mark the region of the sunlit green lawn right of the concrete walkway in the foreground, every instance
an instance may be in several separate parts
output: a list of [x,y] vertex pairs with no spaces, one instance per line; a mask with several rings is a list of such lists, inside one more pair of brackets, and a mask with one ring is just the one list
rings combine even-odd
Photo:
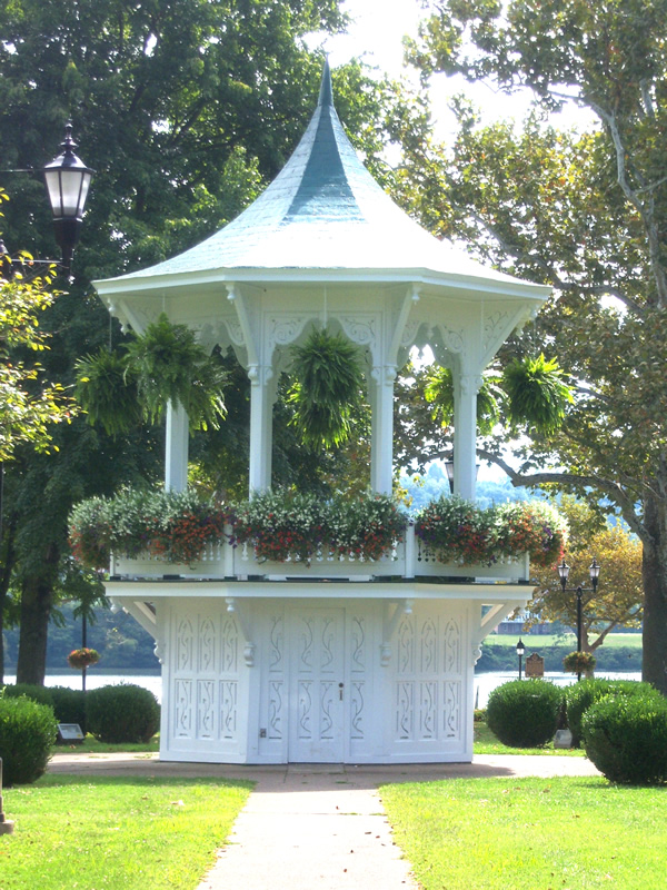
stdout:
[[385,785],[380,794],[424,890],[665,886],[664,788],[455,779]]

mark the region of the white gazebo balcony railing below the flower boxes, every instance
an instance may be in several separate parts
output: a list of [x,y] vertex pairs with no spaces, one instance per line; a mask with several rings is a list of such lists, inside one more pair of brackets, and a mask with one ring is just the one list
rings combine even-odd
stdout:
[[168,563],[149,554],[111,560],[112,577],[127,578],[235,578],[283,581],[298,578],[349,578],[372,581],[378,577],[448,577],[485,578],[490,581],[522,581],[528,577],[528,554],[505,557],[494,563],[464,565],[461,561],[441,562],[415,535],[409,525],[406,540],[380,560],[365,560],[355,554],[339,555],[317,553],[310,563],[298,557],[285,562],[258,561],[252,547],[247,544],[231,547],[228,544],[209,546],[201,560],[192,565]]

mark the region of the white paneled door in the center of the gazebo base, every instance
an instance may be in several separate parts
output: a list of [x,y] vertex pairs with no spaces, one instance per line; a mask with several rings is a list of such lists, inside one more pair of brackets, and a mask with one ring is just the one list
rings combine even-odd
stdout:
[[295,610],[289,626],[289,761],[340,763],[347,695],[345,610]]

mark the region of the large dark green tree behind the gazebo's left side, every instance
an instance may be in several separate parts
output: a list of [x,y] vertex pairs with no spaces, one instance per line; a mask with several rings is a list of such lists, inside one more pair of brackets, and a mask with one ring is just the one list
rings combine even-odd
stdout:
[[[98,171],[77,280],[44,313],[44,329],[57,335],[44,360],[51,379],[71,385],[78,358],[122,339],[90,280],[191,247],[278,172],[319,89],[321,55],[305,38],[342,24],[338,0],[16,0],[0,8],[3,165],[38,167],[50,159],[53,132],[71,116],[80,154]],[[335,72],[335,86],[341,117],[379,168],[386,140],[380,107],[389,86],[357,63]],[[28,176],[12,182],[9,246],[53,256],[50,228],[40,184]],[[218,443],[230,428],[225,424],[242,415],[243,396],[237,395],[240,409],[220,425]],[[233,432],[242,438],[238,426]],[[141,427],[121,441],[77,418],[58,431],[58,452],[21,452],[8,478],[6,511],[6,528],[10,513],[16,528],[12,584],[21,592],[20,681],[43,679],[72,503],[122,482],[157,479],[160,439]],[[198,445],[192,453],[206,456]]]

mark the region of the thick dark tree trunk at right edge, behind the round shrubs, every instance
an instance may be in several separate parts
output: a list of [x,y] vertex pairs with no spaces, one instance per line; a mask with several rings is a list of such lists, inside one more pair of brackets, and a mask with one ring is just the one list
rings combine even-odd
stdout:
[[657,498],[645,503],[645,525],[653,546],[644,544],[644,662],[641,679],[667,695],[667,510]]

